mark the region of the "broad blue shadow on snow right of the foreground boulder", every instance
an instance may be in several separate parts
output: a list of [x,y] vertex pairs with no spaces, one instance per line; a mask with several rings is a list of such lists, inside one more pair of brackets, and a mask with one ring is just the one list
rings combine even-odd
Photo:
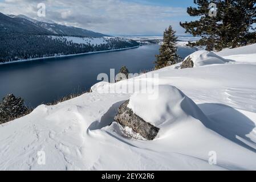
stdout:
[[223,104],[200,104],[198,105],[210,119],[204,125],[223,137],[256,152],[256,143],[249,137],[255,129],[255,123],[246,115],[235,110],[233,107]]

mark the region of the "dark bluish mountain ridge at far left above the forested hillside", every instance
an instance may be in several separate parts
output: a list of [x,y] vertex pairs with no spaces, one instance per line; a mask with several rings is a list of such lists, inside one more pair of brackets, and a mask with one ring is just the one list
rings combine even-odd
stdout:
[[0,13],[0,33],[26,33],[36,35],[52,34],[46,30],[24,18],[10,18]]

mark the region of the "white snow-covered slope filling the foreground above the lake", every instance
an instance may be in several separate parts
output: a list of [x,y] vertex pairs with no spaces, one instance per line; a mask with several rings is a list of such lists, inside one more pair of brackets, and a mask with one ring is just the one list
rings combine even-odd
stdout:
[[[0,169],[255,170],[256,64],[235,63],[166,67],[100,82],[92,93],[56,106],[41,105],[0,126]],[[162,85],[159,100],[128,90],[108,93],[143,81]],[[160,127],[155,140],[125,138],[117,123],[109,126],[129,98],[135,113]],[[208,162],[213,155],[216,165]]]

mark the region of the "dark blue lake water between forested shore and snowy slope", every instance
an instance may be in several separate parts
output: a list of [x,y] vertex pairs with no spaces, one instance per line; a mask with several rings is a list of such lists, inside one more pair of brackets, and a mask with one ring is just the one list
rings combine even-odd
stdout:
[[[21,96],[27,106],[46,104],[70,93],[90,89],[99,82],[97,75],[109,75],[109,69],[115,69],[116,74],[122,65],[126,65],[131,73],[152,69],[159,47],[141,46],[125,51],[0,65],[0,98],[13,93]],[[185,57],[194,50],[181,47],[178,52]]]

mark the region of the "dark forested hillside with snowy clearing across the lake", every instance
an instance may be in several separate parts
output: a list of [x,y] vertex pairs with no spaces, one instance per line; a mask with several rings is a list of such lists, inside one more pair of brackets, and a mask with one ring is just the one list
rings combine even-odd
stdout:
[[[85,39],[87,42],[83,42]],[[97,44],[94,43],[95,39],[98,39]],[[80,43],[78,40],[81,40]],[[139,46],[139,44],[133,40],[121,38],[79,38],[2,33],[0,34],[0,62],[107,51],[135,46]]]

